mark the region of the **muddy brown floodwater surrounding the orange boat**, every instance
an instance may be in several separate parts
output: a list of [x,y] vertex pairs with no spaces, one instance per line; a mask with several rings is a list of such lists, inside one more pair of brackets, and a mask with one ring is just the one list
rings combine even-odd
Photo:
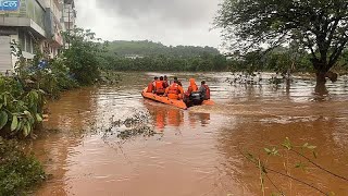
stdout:
[[[318,146],[316,159],[306,155],[348,176],[347,77],[328,84],[331,94],[319,101],[312,79],[275,88],[265,79],[231,85],[229,73],[177,74],[184,85],[191,76],[207,79],[216,102],[184,111],[142,99],[140,90],[158,73],[122,75],[121,85],[72,90],[49,103],[51,114],[32,148],[50,179],[35,195],[262,195],[260,172],[241,151],[265,158],[263,148],[286,137]],[[134,115],[148,118],[109,128]],[[129,126],[146,131],[121,138],[117,133]],[[268,166],[325,193],[348,195],[347,181],[282,154],[288,158],[270,158]],[[299,161],[306,170],[295,169]],[[285,195],[321,195],[295,180],[269,176]],[[265,195],[277,192],[271,181],[264,181]]]

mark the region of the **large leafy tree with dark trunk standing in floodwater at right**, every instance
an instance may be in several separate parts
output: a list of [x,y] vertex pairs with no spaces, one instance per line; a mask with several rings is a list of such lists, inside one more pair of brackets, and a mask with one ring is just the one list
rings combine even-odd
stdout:
[[311,53],[316,86],[337,74],[336,64],[348,41],[346,0],[224,0],[215,17],[235,48],[270,48],[296,40]]

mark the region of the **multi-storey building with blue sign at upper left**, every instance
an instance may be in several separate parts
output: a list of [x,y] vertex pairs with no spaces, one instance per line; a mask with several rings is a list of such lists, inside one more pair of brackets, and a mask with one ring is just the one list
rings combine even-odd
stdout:
[[[0,0],[0,73],[14,71],[17,59],[11,56],[11,41],[20,45],[26,59],[34,58],[35,46],[48,58],[60,52],[61,33],[66,30],[65,2],[74,4],[74,0]],[[75,17],[76,13],[74,23]]]

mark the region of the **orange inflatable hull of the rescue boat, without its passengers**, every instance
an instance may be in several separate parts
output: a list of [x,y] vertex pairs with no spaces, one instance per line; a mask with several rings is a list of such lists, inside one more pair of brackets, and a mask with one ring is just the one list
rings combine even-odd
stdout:
[[[186,110],[188,108],[187,105],[183,100],[170,99],[167,97],[158,96],[157,94],[148,93],[147,90],[148,90],[148,88],[145,88],[141,93],[144,98],[151,99],[151,100],[162,102],[165,105],[175,106],[175,107],[184,109],[184,110]],[[212,105],[214,105],[214,101],[203,100],[200,105],[212,106]],[[195,105],[195,106],[197,106],[197,105]]]

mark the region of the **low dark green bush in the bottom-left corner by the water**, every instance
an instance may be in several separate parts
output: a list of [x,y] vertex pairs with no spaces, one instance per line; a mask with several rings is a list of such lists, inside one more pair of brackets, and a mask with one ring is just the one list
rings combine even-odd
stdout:
[[33,156],[26,156],[14,140],[0,137],[0,195],[25,195],[41,183],[46,175],[42,166]]

